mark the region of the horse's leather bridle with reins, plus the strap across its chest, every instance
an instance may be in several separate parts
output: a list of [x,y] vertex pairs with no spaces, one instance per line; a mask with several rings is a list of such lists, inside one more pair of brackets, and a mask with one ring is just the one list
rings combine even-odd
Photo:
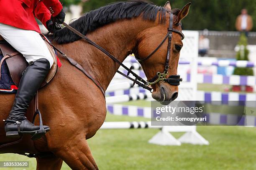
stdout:
[[[110,54],[108,51],[106,51],[104,48],[102,48],[101,46],[99,46],[97,43],[95,43],[94,41],[90,40],[89,38],[87,38],[87,36],[84,36],[82,33],[80,33],[78,30],[74,29],[73,27],[71,27],[70,25],[68,25],[67,23],[62,23],[63,25],[65,25],[69,30],[71,30],[72,32],[74,32],[75,34],[77,34],[79,37],[81,37],[82,39],[84,39],[85,41],[87,41],[88,43],[90,43],[92,46],[95,46],[97,49],[99,49],[100,51],[102,51],[103,53],[105,53],[105,55],[107,55],[108,57],[110,57],[113,61],[115,61],[116,63],[118,63],[120,66],[122,66],[125,70],[128,71],[127,74],[123,74],[121,71],[117,71],[117,73],[121,74],[122,76],[125,76],[127,79],[133,81],[133,86],[135,84],[138,84],[138,86],[141,86],[144,89],[149,90],[150,92],[152,92],[152,88],[149,87],[152,84],[156,84],[158,81],[164,81],[169,83],[170,85],[173,86],[178,86],[179,82],[182,81],[182,79],[180,78],[179,75],[172,75],[169,76],[169,78],[166,78],[166,76],[168,75],[168,69],[169,69],[169,59],[170,59],[170,54],[171,54],[171,41],[172,41],[172,32],[175,33],[179,33],[179,35],[181,36],[182,40],[184,39],[184,34],[182,32],[180,32],[179,30],[174,30],[173,29],[173,14],[170,12],[170,22],[169,22],[169,28],[168,28],[168,33],[165,36],[164,40],[159,44],[159,46],[151,53],[149,54],[146,58],[143,59],[138,59],[136,58],[139,62],[141,61],[145,61],[148,58],[150,58],[154,53],[156,53],[156,51],[158,51],[158,49],[164,44],[164,42],[166,41],[166,39],[168,38],[168,51],[167,51],[167,58],[166,58],[166,63],[165,63],[165,67],[164,67],[164,73],[160,73],[158,72],[156,74],[156,76],[154,76],[153,79],[146,81],[144,79],[142,79],[140,76],[138,76],[138,74],[134,73],[132,71],[132,67],[129,69],[127,66],[125,66],[121,61],[119,61],[117,58],[115,58],[115,56],[113,56],[112,54]],[[102,88],[102,86],[100,85],[100,83],[94,79],[87,71],[85,71],[84,68],[82,68],[81,65],[79,65],[79,63],[77,63],[76,61],[74,61],[73,59],[67,57],[67,55],[65,53],[63,53],[62,51],[60,51],[58,48],[56,48],[54,45],[52,45],[50,42],[47,41],[47,43],[49,43],[56,51],[58,51],[62,56],[64,56],[64,58],[66,58],[73,66],[77,67],[77,69],[79,69],[80,71],[82,71],[82,73],[84,73],[87,77],[89,77],[102,91],[103,95],[105,95],[105,90]],[[131,78],[130,76],[128,76],[129,74],[132,74],[135,79]]]

